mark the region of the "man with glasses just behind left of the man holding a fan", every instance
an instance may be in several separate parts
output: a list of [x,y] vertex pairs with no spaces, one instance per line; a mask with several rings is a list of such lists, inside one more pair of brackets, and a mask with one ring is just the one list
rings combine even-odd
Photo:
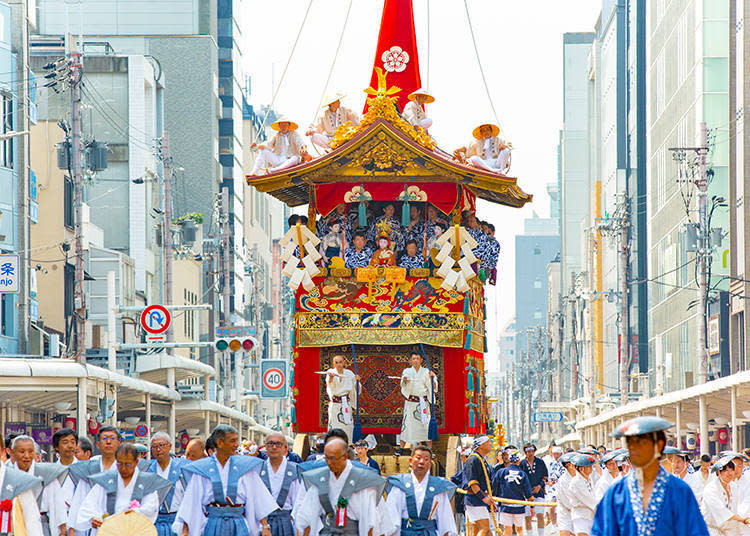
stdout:
[[101,452],[99,456],[93,456],[91,459],[74,463],[70,466],[68,475],[75,484],[76,491],[68,508],[68,529],[76,529],[76,536],[82,536],[85,531],[91,528],[88,523],[83,527],[78,527],[78,511],[81,509],[83,501],[91,491],[91,477],[102,471],[108,471],[115,464],[115,452],[120,446],[120,432],[114,426],[102,426],[96,435],[96,447]]

